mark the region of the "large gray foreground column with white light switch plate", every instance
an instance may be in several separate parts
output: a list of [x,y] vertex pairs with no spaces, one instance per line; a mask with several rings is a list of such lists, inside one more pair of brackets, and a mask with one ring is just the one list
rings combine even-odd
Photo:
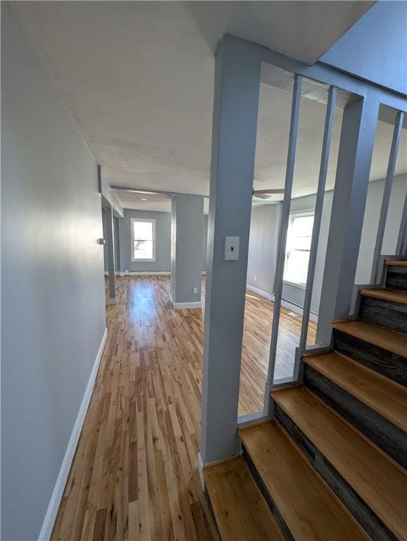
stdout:
[[[203,464],[236,454],[237,406],[260,62],[223,37],[215,60],[208,218],[208,273],[201,418]],[[225,261],[225,237],[239,237],[239,260]]]

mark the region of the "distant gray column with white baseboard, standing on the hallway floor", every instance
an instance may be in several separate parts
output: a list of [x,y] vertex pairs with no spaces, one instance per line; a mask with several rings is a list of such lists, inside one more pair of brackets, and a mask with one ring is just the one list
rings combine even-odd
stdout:
[[174,308],[201,307],[203,196],[171,199],[171,298]]

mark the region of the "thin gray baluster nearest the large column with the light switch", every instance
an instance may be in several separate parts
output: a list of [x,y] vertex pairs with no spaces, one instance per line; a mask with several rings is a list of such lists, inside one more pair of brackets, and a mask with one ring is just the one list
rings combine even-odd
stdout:
[[296,138],[299,124],[299,106],[301,101],[301,75],[296,75],[292,94],[291,121],[289,127],[289,141],[287,154],[287,167],[285,171],[284,199],[282,202],[282,215],[280,222],[280,235],[277,251],[277,263],[275,266],[275,299],[273,307],[273,327],[271,330],[270,358],[268,362],[268,376],[265,384],[263,414],[270,414],[272,404],[270,402],[270,387],[273,385],[275,356],[277,354],[278,328],[280,324],[280,309],[282,297],[282,278],[284,275],[285,248],[287,244],[287,232],[289,224],[289,209],[292,197],[292,182],[294,179],[294,163],[296,151]]

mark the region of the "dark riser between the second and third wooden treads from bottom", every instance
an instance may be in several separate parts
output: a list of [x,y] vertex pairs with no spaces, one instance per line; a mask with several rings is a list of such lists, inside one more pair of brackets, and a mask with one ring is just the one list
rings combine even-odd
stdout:
[[275,404],[275,419],[300,447],[308,458],[308,461],[310,461],[311,466],[318,471],[325,480],[325,483],[330,486],[331,490],[342,501],[354,518],[356,518],[356,521],[358,521],[368,535],[370,535],[372,540],[396,541],[397,538],[392,534],[389,528],[387,528],[372,509],[363,502],[363,499],[358,496],[349,483],[342,478],[342,475],[340,475],[332,464],[327,461],[325,456],[320,453],[311,440],[308,440],[308,437],[301,432],[294,421],[284,413],[278,404]]

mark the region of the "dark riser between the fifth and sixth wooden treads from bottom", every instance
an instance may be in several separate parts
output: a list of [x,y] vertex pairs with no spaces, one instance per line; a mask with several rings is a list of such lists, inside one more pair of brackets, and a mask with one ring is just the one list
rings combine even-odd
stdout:
[[396,304],[362,295],[358,317],[367,323],[407,332],[407,304]]

